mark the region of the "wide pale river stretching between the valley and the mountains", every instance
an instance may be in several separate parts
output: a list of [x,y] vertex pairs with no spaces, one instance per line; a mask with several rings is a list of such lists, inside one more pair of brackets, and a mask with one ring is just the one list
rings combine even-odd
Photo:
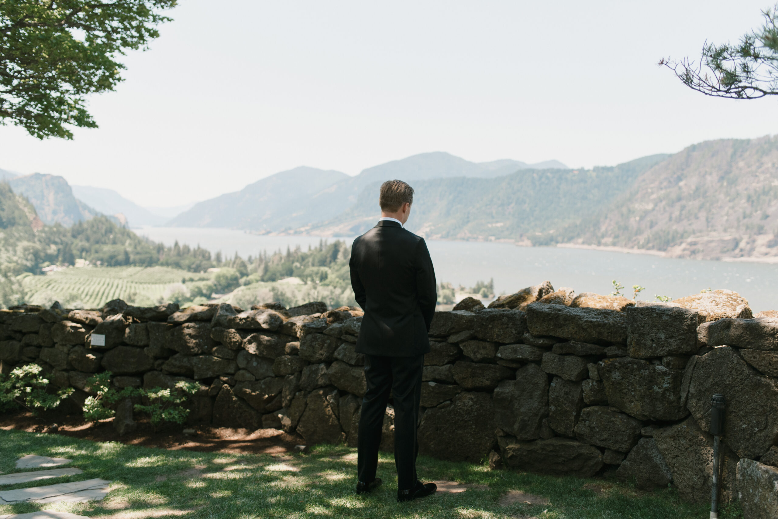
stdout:
[[[200,245],[225,256],[244,259],[262,251],[286,251],[286,247],[317,246],[314,236],[259,236],[232,229],[145,227],[133,229],[166,246]],[[351,242],[352,239],[342,239]],[[748,299],[754,312],[778,309],[778,265],[724,263],[699,259],[662,258],[643,254],[615,253],[557,247],[517,247],[512,243],[430,240],[429,253],[439,281],[471,287],[477,280],[494,279],[495,291],[512,293],[528,285],[550,280],[554,287],[572,287],[576,293],[612,291],[617,280],[632,297],[631,287],[646,287],[639,298],[656,295],[681,298],[706,288],[728,288]]]

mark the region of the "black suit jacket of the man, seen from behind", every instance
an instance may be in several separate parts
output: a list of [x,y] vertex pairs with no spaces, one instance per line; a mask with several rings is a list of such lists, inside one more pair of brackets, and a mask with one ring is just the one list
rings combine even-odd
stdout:
[[354,240],[351,286],[365,311],[356,351],[386,357],[429,353],[437,291],[433,261],[421,236],[395,221]]

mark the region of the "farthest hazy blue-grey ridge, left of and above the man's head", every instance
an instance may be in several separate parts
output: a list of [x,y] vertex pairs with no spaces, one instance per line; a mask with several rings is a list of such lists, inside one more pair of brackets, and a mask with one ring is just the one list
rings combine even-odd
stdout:
[[[567,169],[558,161],[533,166]],[[469,162],[445,152],[422,153],[386,162],[364,169],[357,176],[301,166],[267,176],[235,193],[195,204],[189,211],[170,220],[169,225],[304,232],[348,210],[365,186],[378,181],[399,178],[418,182],[461,176],[486,179],[529,167],[525,162],[510,159]]]

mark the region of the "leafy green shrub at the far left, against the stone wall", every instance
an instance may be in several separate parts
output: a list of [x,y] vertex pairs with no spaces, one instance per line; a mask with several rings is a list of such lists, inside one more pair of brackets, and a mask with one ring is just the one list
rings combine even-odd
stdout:
[[61,388],[47,392],[47,378],[40,375],[42,367],[37,364],[15,367],[8,375],[0,374],[0,405],[9,409],[23,406],[33,414],[37,411],[54,409],[63,399],[72,395],[73,388]]

